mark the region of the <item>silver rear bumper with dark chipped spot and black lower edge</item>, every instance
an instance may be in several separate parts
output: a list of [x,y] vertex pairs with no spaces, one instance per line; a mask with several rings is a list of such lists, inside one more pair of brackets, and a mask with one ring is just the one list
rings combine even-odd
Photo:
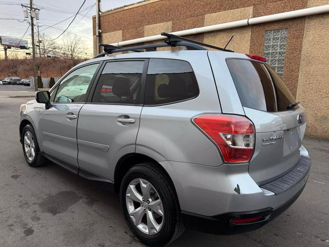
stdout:
[[[285,186],[281,191],[271,191],[266,185],[258,185],[248,173],[248,164],[223,164],[218,167],[168,161],[160,164],[167,170],[174,183],[187,227],[191,225],[191,228],[197,228],[193,225],[204,225],[202,222],[208,222],[207,224],[216,226],[210,228],[218,228],[215,232],[230,234],[243,232],[244,228],[250,231],[264,225],[298,198],[306,184],[310,169],[310,158],[306,149],[302,146],[300,151],[302,163],[300,167],[295,167],[303,169],[300,176],[296,177],[294,168],[276,181],[270,182],[280,182],[279,186]],[[307,168],[304,166],[305,161],[308,163]],[[290,179],[295,181],[284,178],[290,172],[293,172]],[[283,185],[280,180],[282,178],[289,184]],[[249,223],[247,227],[230,225],[232,218],[238,215],[242,218],[264,217],[261,222]],[[192,223],[193,221],[196,223]],[[231,227],[225,230],[228,226]],[[207,228],[207,232],[211,232]]]

